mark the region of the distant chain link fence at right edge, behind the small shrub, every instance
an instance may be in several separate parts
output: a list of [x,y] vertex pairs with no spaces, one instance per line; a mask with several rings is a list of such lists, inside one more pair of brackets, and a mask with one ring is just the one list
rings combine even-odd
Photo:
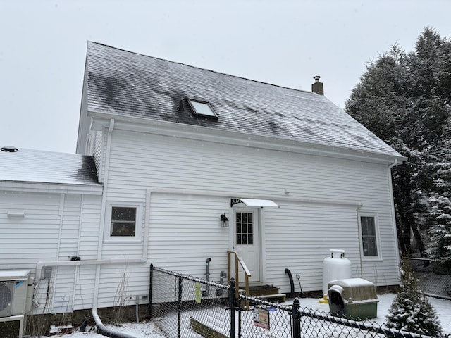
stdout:
[[432,259],[407,258],[412,265],[419,289],[428,296],[451,299],[451,271]]

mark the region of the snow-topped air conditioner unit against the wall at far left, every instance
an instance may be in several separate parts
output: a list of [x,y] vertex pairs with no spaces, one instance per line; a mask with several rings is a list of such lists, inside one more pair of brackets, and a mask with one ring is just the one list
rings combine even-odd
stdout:
[[30,270],[0,270],[0,318],[30,311],[32,298]]

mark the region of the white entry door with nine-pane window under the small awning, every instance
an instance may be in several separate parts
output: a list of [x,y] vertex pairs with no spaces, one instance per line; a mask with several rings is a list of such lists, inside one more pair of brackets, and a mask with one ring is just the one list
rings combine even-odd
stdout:
[[[260,280],[259,255],[259,223],[256,209],[237,209],[234,211],[235,233],[233,239],[234,250],[245,262],[252,282]],[[240,272],[240,282],[244,282],[244,274]]]

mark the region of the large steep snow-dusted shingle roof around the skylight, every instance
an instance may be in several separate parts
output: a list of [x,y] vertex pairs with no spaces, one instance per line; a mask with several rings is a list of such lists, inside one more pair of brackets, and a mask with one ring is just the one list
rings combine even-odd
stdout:
[[[264,69],[262,70],[264,72]],[[88,111],[400,156],[325,96],[88,42]],[[218,120],[180,100],[206,99]]]

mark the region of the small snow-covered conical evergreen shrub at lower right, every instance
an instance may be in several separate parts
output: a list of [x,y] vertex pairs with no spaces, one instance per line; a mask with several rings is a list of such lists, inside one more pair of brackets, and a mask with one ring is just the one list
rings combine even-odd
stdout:
[[435,308],[419,290],[407,261],[402,262],[401,289],[388,310],[385,325],[396,330],[443,337]]

